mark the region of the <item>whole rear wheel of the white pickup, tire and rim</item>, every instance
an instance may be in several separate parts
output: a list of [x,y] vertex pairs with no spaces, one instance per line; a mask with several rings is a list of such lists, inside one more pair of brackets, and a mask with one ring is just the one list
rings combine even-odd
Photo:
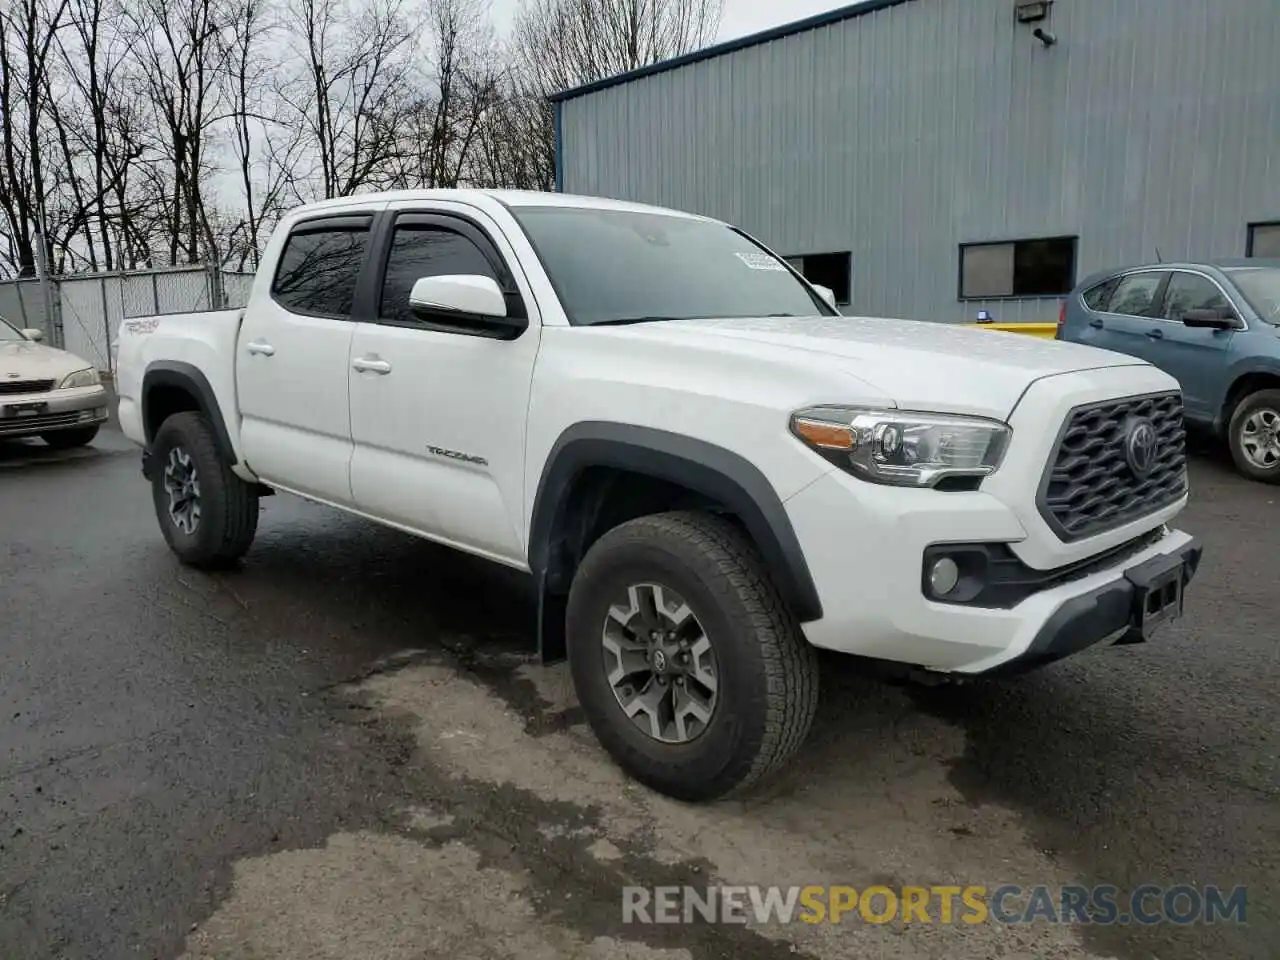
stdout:
[[200,413],[174,413],[151,444],[151,495],[170,549],[193,567],[244,556],[257,532],[257,490],[232,472]]

